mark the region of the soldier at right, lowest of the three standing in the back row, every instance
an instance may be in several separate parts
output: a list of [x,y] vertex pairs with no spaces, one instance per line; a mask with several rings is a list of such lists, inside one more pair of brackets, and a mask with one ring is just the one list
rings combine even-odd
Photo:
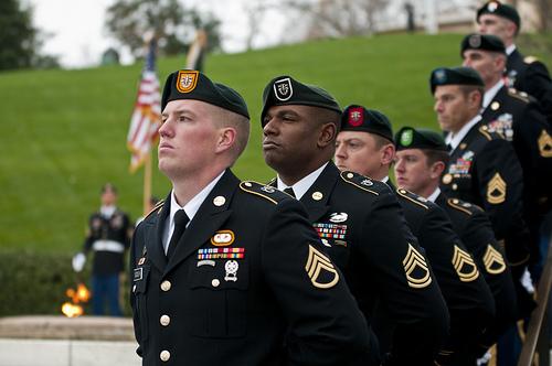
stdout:
[[526,269],[529,251],[522,217],[523,179],[516,152],[481,120],[484,82],[475,69],[436,68],[431,75],[431,90],[438,123],[447,132],[445,141],[450,148],[440,189],[452,198],[474,203],[487,212],[517,281]]

